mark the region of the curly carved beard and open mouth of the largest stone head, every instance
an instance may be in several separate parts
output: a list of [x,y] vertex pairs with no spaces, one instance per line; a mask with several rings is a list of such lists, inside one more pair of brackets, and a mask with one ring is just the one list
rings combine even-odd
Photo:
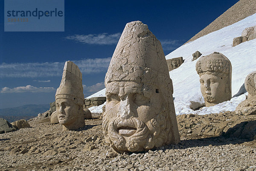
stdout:
[[149,150],[165,145],[168,141],[162,137],[170,133],[166,124],[168,121],[162,120],[165,123],[162,123],[163,129],[161,129],[156,126],[159,124],[158,119],[163,117],[156,116],[146,123],[135,117],[129,119],[116,117],[109,121],[104,115],[103,133],[111,147],[118,153]]

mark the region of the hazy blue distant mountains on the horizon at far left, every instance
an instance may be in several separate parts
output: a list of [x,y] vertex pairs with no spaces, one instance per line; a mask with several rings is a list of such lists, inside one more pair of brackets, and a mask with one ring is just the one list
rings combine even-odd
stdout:
[[8,122],[14,122],[19,119],[31,119],[38,116],[38,113],[44,113],[49,110],[49,104],[27,104],[20,107],[9,107],[0,109],[0,118]]

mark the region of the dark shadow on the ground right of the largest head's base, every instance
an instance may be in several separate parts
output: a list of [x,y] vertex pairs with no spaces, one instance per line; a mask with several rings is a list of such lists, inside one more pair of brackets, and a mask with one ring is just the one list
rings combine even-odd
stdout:
[[228,145],[228,144],[241,144],[244,142],[250,142],[256,139],[256,120],[241,122],[233,128],[229,128],[226,133],[222,133],[220,136],[201,138],[201,139],[189,139],[182,140],[178,145],[170,145],[172,148],[190,148],[201,147],[209,145]]

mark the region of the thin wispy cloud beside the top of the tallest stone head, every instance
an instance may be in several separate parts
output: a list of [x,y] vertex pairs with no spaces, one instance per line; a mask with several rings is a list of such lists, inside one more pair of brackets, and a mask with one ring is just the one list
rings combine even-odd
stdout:
[[85,44],[100,44],[100,45],[109,45],[116,44],[121,36],[121,33],[115,34],[94,34],[94,35],[71,35],[65,37],[66,39],[78,41]]

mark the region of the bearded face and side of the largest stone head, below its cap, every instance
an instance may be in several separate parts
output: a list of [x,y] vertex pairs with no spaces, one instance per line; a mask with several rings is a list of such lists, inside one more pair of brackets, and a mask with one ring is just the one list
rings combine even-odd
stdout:
[[133,81],[107,84],[102,125],[115,151],[143,151],[179,142],[172,126],[174,122],[177,124],[176,116],[175,119],[170,116],[175,113],[173,102],[167,98],[168,90],[163,90]]

